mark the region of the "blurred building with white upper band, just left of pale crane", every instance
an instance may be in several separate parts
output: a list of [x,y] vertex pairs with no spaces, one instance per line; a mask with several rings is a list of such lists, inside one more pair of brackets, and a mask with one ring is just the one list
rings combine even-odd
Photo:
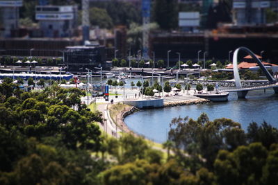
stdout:
[[77,27],[77,6],[36,6],[35,19],[43,37],[72,37]]

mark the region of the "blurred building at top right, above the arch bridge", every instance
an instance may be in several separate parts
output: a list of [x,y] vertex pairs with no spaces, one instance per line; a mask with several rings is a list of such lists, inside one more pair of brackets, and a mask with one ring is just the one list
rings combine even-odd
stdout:
[[238,26],[265,24],[265,9],[270,1],[234,0],[234,23]]

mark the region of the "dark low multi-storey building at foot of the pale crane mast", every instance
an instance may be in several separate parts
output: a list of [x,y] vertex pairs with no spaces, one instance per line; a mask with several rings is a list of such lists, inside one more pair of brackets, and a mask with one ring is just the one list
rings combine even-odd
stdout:
[[69,46],[64,52],[67,71],[80,72],[85,69],[104,67],[106,49],[99,45]]

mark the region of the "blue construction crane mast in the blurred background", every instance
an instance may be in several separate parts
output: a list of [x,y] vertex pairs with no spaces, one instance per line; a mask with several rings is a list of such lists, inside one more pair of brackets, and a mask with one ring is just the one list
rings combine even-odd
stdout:
[[142,0],[143,17],[143,44],[142,55],[144,60],[149,60],[149,17],[151,15],[151,0]]

